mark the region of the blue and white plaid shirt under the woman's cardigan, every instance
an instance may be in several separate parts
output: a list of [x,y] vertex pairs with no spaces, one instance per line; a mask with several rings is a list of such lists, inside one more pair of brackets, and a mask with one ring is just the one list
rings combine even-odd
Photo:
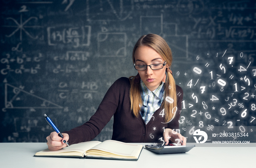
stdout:
[[154,112],[160,108],[163,101],[164,83],[154,91],[150,91],[144,82],[140,79],[140,96],[142,98],[143,105],[140,106],[140,115],[142,116],[145,124],[147,124]]

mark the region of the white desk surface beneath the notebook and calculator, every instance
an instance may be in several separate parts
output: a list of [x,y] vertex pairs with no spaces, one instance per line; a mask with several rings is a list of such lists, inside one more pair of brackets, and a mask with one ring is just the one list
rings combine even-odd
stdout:
[[[143,144],[144,146],[145,144]],[[251,147],[195,147],[187,153],[157,155],[143,149],[138,161],[33,157],[46,143],[0,143],[3,168],[217,168],[255,167],[256,144]]]

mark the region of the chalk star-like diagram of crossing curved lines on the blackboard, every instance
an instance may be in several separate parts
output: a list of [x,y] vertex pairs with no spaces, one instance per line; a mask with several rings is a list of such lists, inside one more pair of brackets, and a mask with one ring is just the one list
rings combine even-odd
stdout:
[[3,27],[8,27],[8,28],[12,28],[12,27],[16,27],[15,31],[13,31],[10,35],[5,35],[6,37],[11,37],[13,36],[16,32],[20,31],[19,36],[20,36],[20,41],[22,41],[22,31],[24,31],[26,33],[26,35],[28,35],[31,39],[38,39],[38,36],[33,37],[28,31],[26,31],[25,28],[41,28],[41,26],[37,26],[37,25],[33,25],[33,26],[25,26],[30,20],[35,19],[38,20],[37,17],[30,17],[29,19],[27,19],[25,22],[22,22],[22,15],[20,15],[20,23],[18,23],[17,20],[15,20],[12,17],[8,17],[6,18],[7,20],[12,20],[14,21],[14,23],[16,25],[12,26],[12,25],[3,25]]

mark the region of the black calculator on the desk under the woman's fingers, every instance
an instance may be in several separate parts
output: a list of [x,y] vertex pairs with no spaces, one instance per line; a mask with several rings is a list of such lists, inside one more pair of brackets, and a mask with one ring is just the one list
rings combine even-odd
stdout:
[[186,153],[195,147],[195,145],[145,145],[145,148],[151,152],[157,154],[167,154],[167,153]]

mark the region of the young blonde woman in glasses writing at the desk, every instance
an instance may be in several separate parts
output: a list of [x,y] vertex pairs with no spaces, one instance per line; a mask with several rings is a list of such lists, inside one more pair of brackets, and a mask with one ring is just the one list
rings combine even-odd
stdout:
[[166,41],[155,34],[140,37],[132,59],[138,75],[116,80],[90,120],[64,132],[63,139],[56,132],[50,133],[46,137],[50,150],[65,147],[66,141],[75,144],[93,140],[112,116],[112,140],[186,144],[186,138],[173,130],[178,129],[183,91],[170,71],[172,52]]

